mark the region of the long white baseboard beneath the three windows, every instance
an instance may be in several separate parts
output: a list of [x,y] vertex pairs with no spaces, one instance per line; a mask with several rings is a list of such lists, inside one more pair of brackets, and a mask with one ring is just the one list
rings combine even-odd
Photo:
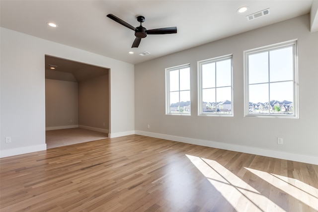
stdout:
[[135,131],[135,134],[141,135],[141,136],[149,136],[149,137],[158,138],[158,139],[179,141],[183,143],[191,143],[191,144],[196,144],[201,146],[208,146],[208,147],[226,149],[231,151],[239,151],[239,152],[244,152],[249,154],[257,154],[257,155],[262,155],[267,157],[275,157],[275,158],[280,158],[285,160],[293,160],[293,161],[318,165],[318,156],[314,156],[314,155],[304,155],[304,154],[297,154],[293,152],[275,151],[275,150],[262,149],[262,148],[256,148],[251,146],[222,143],[217,141],[191,139],[191,138],[170,136],[170,135],[164,135],[164,134],[158,134],[158,133],[150,133],[145,131]]

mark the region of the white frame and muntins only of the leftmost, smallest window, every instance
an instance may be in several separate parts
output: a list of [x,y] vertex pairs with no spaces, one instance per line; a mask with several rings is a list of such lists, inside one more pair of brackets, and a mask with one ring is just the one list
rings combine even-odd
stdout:
[[[176,71],[184,68],[189,68],[189,92],[190,92],[190,108],[191,108],[191,69],[190,64],[184,64],[180,66],[170,67],[165,69],[165,115],[180,115],[180,116],[191,116],[191,109],[190,113],[171,113],[170,112],[170,78],[169,78],[169,71]],[[180,91],[186,91],[186,90],[180,90],[180,72],[179,72],[179,90]],[[180,94],[179,94],[179,103],[180,103]]]

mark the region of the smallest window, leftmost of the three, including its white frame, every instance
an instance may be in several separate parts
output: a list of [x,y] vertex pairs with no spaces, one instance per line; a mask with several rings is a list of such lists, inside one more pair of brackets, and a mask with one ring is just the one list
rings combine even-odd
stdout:
[[190,115],[190,65],[166,71],[166,114]]

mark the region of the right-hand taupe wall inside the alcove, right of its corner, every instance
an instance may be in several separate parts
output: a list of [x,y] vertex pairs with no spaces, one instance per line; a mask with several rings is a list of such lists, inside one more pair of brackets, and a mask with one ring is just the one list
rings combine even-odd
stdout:
[[108,75],[79,82],[79,125],[109,130]]

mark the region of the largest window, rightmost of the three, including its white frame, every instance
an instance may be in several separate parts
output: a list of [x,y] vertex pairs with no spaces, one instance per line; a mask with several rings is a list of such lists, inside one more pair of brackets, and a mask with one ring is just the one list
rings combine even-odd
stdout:
[[245,115],[298,117],[297,41],[244,52]]

